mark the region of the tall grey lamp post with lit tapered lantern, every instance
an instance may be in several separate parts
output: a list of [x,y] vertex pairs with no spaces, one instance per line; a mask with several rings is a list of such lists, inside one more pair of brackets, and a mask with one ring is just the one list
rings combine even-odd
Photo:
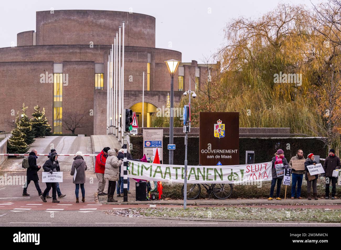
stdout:
[[[170,119],[169,119],[169,144],[173,144],[173,105],[174,105],[174,74],[178,69],[180,61],[171,59],[165,61],[168,71],[170,73]],[[169,162],[168,164],[173,164],[173,150],[169,150]]]

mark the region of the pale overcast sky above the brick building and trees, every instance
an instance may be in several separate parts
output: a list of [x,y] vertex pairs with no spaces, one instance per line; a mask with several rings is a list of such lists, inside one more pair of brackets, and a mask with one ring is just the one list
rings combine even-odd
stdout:
[[[320,3],[321,0],[311,0]],[[182,62],[214,53],[223,42],[223,28],[233,18],[259,17],[273,10],[278,3],[305,4],[310,0],[58,0],[1,1],[0,48],[16,45],[17,33],[35,30],[35,12],[50,10],[113,10],[130,11],[156,18],[156,47],[182,52]],[[210,8],[210,9],[209,9]],[[209,10],[211,13],[209,13]]]

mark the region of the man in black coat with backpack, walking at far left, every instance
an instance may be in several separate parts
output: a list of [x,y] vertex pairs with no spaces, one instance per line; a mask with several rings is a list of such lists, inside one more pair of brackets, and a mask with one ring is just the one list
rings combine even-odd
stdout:
[[31,181],[34,182],[35,188],[38,191],[38,195],[41,196],[42,190],[40,189],[39,186],[39,177],[38,177],[38,171],[40,170],[41,166],[37,165],[37,151],[33,149],[28,156],[28,165],[29,167],[26,170],[26,176],[27,176],[27,181],[25,183],[24,191],[23,191],[23,196],[29,196],[27,194],[27,187],[30,184]]

